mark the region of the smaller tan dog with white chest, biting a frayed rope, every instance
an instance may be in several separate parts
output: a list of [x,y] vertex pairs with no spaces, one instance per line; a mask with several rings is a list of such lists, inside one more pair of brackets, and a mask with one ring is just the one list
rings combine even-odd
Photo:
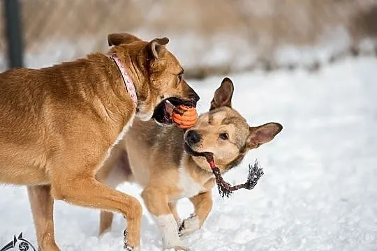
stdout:
[[[136,181],[145,188],[142,199],[161,230],[164,249],[186,250],[179,234],[199,229],[211,211],[214,175],[205,157],[198,153],[214,153],[216,166],[224,173],[237,166],[250,149],[271,141],[282,129],[279,123],[249,127],[232,109],[232,94],[232,82],[223,79],[209,112],[202,114],[190,130],[135,119],[124,141],[114,147],[98,172],[98,180],[113,187]],[[182,197],[191,200],[195,214],[178,228],[176,204]],[[112,213],[103,211],[100,234],[111,224]]]

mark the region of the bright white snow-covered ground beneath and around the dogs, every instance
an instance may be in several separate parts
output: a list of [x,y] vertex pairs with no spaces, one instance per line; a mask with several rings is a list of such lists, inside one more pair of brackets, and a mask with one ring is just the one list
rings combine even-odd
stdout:
[[[244,73],[235,83],[233,106],[251,125],[283,124],[269,144],[251,151],[228,181],[246,178],[256,158],[265,171],[255,190],[221,199],[202,229],[184,238],[192,250],[377,250],[377,61],[356,59],[304,71]],[[222,76],[191,81],[199,110],[209,107]],[[136,185],[119,190],[138,196]],[[187,200],[182,216],[191,213]],[[124,218],[98,240],[99,212],[57,201],[56,238],[62,250],[121,250]],[[36,244],[25,188],[1,185],[0,248],[24,233]],[[145,211],[143,250],[161,250]]]

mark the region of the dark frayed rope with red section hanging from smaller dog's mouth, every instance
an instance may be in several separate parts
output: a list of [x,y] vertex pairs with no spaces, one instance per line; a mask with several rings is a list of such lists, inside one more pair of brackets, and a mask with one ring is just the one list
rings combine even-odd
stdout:
[[216,167],[214,163],[214,155],[212,153],[204,153],[204,156],[209,163],[214,176],[216,177],[216,184],[221,197],[229,198],[229,196],[232,195],[233,191],[239,190],[241,188],[252,190],[256,186],[259,178],[264,174],[263,169],[259,167],[258,161],[256,161],[254,165],[249,165],[249,175],[247,177],[246,183],[232,186],[223,180],[219,167]]

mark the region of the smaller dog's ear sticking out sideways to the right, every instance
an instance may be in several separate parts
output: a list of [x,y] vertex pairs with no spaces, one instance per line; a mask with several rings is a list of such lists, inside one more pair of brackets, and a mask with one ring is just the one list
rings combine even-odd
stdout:
[[255,149],[261,144],[270,142],[282,129],[283,126],[279,123],[266,123],[262,126],[250,127],[247,147]]

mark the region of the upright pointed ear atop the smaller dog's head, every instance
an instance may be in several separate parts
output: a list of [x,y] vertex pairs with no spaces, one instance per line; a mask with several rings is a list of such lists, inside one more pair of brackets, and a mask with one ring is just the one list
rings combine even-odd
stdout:
[[221,86],[214,93],[214,98],[211,101],[211,108],[209,111],[219,107],[232,107],[232,96],[234,86],[232,80],[228,77],[224,78],[221,82]]

